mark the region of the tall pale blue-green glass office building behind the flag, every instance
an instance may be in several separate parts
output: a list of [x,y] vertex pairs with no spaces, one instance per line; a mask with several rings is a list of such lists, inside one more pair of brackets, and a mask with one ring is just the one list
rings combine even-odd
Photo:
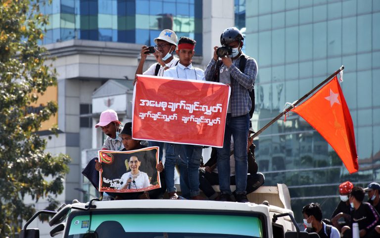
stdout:
[[379,23],[378,0],[246,1],[246,53],[259,66],[256,129],[345,66],[341,87],[355,127],[359,172],[350,175],[323,137],[296,114],[278,120],[255,141],[265,185],[288,186],[298,222],[310,202],[319,202],[330,218],[341,182],[380,181]]

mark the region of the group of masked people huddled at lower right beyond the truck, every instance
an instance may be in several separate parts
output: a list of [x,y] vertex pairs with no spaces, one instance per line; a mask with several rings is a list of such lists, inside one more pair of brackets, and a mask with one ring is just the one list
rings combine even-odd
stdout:
[[[365,194],[368,201],[365,202]],[[331,219],[322,218],[318,203],[302,208],[303,223],[308,233],[317,233],[320,238],[352,238],[353,226],[357,223],[359,237],[380,238],[380,184],[370,183],[367,188],[354,187],[346,181],[339,185],[340,201],[332,212]]]

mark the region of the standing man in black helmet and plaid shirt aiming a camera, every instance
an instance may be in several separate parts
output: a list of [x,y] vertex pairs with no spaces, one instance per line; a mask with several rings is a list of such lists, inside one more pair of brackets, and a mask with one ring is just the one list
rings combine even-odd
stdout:
[[[220,200],[222,201],[230,201],[232,194],[230,189],[230,143],[231,136],[233,136],[235,142],[235,196],[238,202],[248,202],[245,191],[248,169],[246,148],[250,121],[249,111],[254,104],[249,92],[253,90],[253,83],[257,76],[257,63],[255,59],[241,52],[243,40],[244,38],[237,28],[224,30],[220,37],[222,50],[218,50],[218,46],[214,47],[214,56],[205,70],[206,80],[223,82],[231,86],[223,148],[217,149]],[[225,52],[228,54],[225,55]],[[219,57],[221,60],[218,60]]]

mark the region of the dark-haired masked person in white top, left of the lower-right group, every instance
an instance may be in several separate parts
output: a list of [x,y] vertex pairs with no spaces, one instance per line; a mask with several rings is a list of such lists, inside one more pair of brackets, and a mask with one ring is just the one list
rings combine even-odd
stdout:
[[320,238],[340,238],[338,229],[322,221],[322,210],[318,203],[304,206],[302,214],[307,233],[315,232]]

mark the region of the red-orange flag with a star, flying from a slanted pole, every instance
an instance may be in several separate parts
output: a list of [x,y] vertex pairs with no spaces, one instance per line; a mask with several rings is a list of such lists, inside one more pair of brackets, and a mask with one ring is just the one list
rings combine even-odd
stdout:
[[358,171],[354,126],[336,76],[292,111],[309,122],[325,138],[348,172]]

